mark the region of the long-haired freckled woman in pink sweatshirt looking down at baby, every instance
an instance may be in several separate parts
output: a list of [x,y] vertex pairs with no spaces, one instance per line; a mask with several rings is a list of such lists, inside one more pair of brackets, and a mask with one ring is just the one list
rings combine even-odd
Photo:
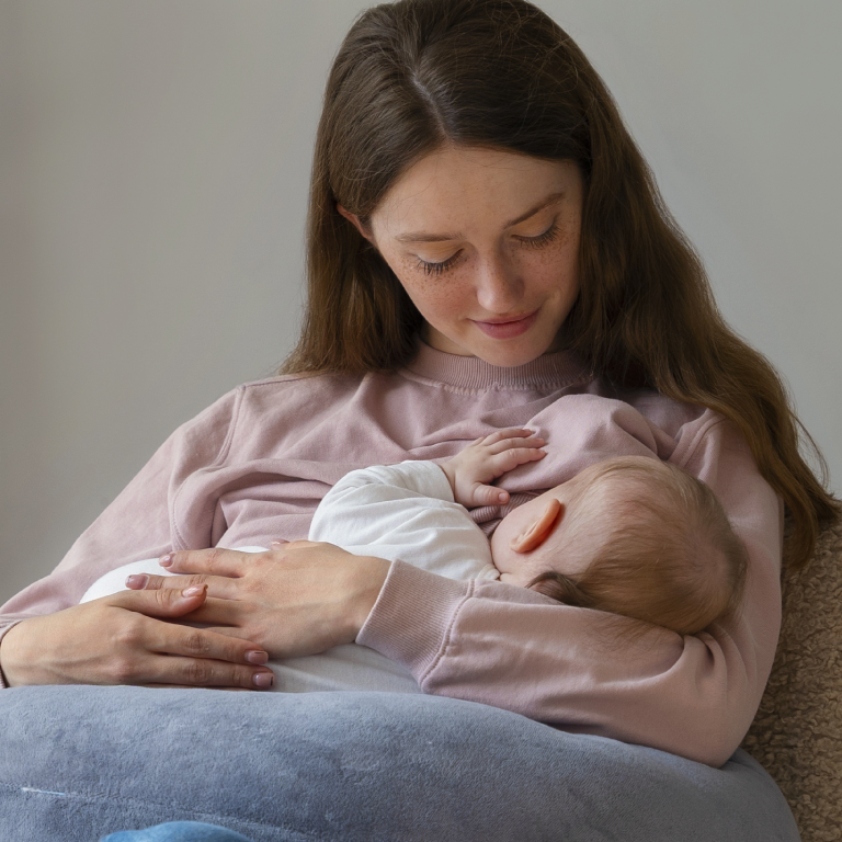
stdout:
[[[578,47],[520,0],[371,10],[328,81],[309,214],[308,310],[285,376],[177,431],[8,603],[5,682],[265,687],[268,658],[356,640],[429,693],[722,764],[774,655],[780,501],[794,567],[838,504]],[[349,469],[450,456],[538,417],[551,432],[553,401],[571,391],[636,407],[659,455],[720,498],[751,558],[739,616],[596,657],[600,616],[539,594],[326,545],[201,550],[304,538]],[[585,432],[585,462],[637,434]],[[151,555],[189,578],[76,605]],[[187,615],[209,628],[169,622]]]

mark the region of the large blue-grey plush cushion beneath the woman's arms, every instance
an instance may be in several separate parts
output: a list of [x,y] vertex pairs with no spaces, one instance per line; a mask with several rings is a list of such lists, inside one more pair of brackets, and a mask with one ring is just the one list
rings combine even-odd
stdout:
[[15,687],[0,733],[3,842],[798,842],[743,751],[710,769],[435,696]]

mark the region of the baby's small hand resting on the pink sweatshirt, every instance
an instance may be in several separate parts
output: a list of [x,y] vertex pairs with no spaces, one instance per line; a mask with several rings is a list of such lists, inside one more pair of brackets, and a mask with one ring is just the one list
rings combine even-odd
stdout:
[[467,508],[508,503],[509,493],[489,483],[519,465],[543,459],[547,455],[541,450],[543,444],[532,430],[498,430],[477,439],[441,467],[457,503]]

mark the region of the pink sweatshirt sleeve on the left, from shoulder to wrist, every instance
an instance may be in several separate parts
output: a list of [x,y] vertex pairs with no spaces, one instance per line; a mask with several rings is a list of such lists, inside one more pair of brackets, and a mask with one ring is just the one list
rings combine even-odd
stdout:
[[[78,604],[88,588],[110,570],[183,548],[175,546],[180,542],[173,503],[189,476],[224,458],[239,400],[239,390],[229,392],[180,426],[82,533],[58,567],[0,607],[0,641],[22,619]],[[2,663],[3,686],[1,668]]]

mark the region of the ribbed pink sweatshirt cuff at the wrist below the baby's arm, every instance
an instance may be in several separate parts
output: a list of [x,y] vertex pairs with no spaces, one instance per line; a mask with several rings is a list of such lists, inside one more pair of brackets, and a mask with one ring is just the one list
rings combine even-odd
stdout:
[[356,642],[403,664],[421,684],[443,653],[453,621],[473,590],[473,580],[445,579],[392,561]]

